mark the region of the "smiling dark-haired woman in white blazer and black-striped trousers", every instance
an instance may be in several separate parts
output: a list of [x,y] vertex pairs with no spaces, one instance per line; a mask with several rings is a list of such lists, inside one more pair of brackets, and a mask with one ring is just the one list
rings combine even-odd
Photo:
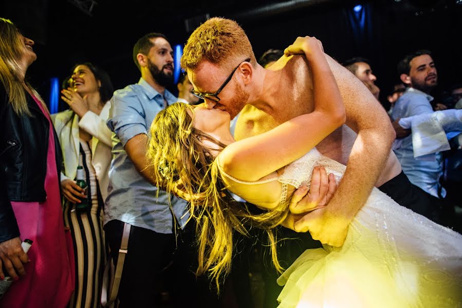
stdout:
[[[52,118],[64,157],[64,223],[71,229],[75,251],[76,291],[69,307],[99,307],[107,253],[102,222],[112,149],[112,133],[106,120],[113,86],[105,71],[91,63],[79,63],[72,68],[70,86],[61,93],[70,109]],[[86,189],[75,181],[79,165],[88,184]],[[78,211],[76,204],[82,199],[87,199],[90,206]]]

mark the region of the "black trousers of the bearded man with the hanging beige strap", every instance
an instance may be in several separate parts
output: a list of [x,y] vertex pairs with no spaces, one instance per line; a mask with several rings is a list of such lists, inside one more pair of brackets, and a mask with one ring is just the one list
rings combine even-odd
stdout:
[[[124,223],[112,220],[104,226],[114,264]],[[189,225],[189,224],[188,224]],[[162,234],[132,226],[119,287],[120,308],[218,307],[208,281],[197,280],[197,257],[191,227]]]

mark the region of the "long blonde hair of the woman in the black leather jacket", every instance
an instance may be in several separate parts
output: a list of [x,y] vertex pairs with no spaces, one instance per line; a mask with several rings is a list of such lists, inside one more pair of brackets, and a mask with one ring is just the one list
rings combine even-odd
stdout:
[[[24,52],[20,35],[21,32],[10,20],[0,18],[0,81],[5,87],[8,103],[12,105],[14,112],[18,115],[31,115],[21,80],[24,76],[21,76],[20,66],[17,63],[17,57]],[[29,83],[25,82],[25,85],[48,110],[39,93]]]

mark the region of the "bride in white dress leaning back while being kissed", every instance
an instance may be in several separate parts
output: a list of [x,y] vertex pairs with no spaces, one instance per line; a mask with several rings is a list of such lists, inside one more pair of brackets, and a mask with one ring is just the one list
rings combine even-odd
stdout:
[[[198,274],[229,273],[233,230],[266,230],[273,263],[282,270],[272,232],[288,200],[322,166],[341,180],[345,166],[315,146],[345,122],[340,93],[316,38],[295,41],[313,76],[315,110],[258,136],[234,141],[226,111],[175,103],[158,113],[148,157],[155,181],[190,200],[197,220]],[[230,192],[265,209],[254,214]],[[352,191],[352,194],[355,192]],[[345,200],[347,206],[348,200]],[[328,206],[328,205],[327,205]],[[316,209],[315,209],[316,210]],[[281,307],[462,306],[462,236],[399,206],[374,188],[350,223],[341,247],[305,251],[278,279]]]

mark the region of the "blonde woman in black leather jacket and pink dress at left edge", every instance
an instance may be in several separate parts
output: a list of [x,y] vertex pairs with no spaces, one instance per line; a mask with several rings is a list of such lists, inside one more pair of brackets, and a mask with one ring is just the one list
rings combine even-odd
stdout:
[[[46,105],[25,81],[33,45],[0,18],[0,280],[16,280],[2,307],[64,307],[73,288],[60,145]],[[26,238],[33,241],[27,255]]]

